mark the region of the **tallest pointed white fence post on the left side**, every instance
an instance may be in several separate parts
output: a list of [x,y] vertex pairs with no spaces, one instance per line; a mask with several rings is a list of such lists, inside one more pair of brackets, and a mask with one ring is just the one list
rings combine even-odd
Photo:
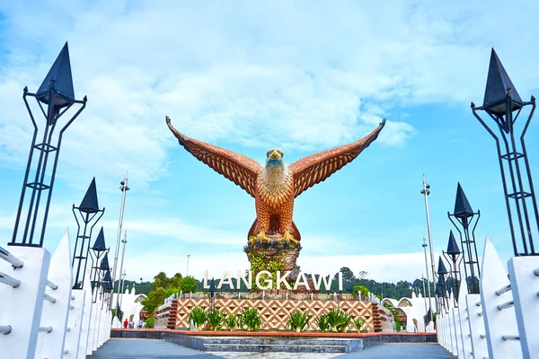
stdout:
[[52,330],[40,332],[36,358],[59,358],[64,355],[67,315],[71,305],[71,249],[69,231],[66,230],[57,250],[52,255],[49,267],[46,299],[43,303],[40,326],[49,326]]

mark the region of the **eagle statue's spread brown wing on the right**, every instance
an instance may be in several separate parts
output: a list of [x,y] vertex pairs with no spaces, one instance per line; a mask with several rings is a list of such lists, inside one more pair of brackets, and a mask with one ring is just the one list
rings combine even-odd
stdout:
[[376,140],[384,125],[385,118],[373,132],[352,144],[343,144],[321,153],[314,153],[290,164],[288,170],[292,171],[294,176],[294,197],[326,180],[347,163],[352,162]]

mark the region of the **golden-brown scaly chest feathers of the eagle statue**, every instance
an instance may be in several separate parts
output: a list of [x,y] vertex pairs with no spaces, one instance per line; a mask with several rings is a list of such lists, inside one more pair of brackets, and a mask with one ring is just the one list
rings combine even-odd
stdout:
[[294,199],[292,176],[283,171],[262,171],[257,179],[258,198],[273,209]]

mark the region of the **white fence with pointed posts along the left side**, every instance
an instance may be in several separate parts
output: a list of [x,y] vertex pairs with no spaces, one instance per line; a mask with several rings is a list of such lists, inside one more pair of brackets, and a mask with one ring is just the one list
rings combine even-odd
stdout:
[[9,250],[0,247],[0,356],[85,358],[109,339],[111,313],[104,296],[93,303],[92,266],[85,289],[71,289],[67,231],[52,258],[38,247]]

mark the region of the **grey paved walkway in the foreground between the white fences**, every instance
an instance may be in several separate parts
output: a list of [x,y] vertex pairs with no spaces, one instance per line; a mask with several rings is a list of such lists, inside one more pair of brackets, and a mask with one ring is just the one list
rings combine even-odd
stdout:
[[164,340],[149,339],[115,339],[108,340],[90,359],[172,359],[172,358],[268,358],[268,359],[452,359],[455,356],[449,354],[437,344],[384,344],[374,346],[356,353],[344,355],[317,354],[317,353],[204,353],[199,350],[187,348],[165,342]]

